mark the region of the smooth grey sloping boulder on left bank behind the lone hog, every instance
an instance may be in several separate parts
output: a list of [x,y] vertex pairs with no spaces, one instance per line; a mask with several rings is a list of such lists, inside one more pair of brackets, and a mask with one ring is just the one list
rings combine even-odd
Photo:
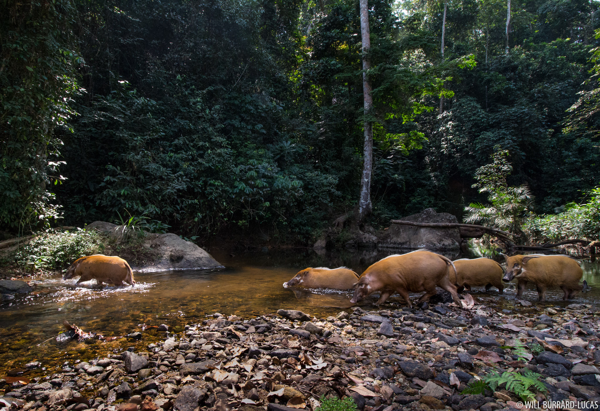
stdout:
[[[95,228],[112,236],[117,236],[117,225],[106,221],[95,221],[86,229]],[[158,254],[156,261],[142,267],[131,267],[137,273],[169,270],[201,270],[203,268],[223,268],[217,260],[205,250],[191,241],[185,241],[179,235],[146,234],[144,246],[150,247]]]

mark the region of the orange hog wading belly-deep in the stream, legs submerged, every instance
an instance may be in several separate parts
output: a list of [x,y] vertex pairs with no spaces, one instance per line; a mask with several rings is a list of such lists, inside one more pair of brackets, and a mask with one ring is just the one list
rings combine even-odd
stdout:
[[287,286],[302,286],[306,288],[333,288],[347,290],[354,288],[358,274],[347,267],[326,268],[308,267],[299,271],[291,280],[283,283]]

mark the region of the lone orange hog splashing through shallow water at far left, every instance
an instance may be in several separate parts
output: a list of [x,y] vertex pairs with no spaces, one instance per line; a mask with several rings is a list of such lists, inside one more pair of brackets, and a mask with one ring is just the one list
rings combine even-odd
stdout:
[[76,259],[62,279],[67,280],[76,276],[81,276],[76,284],[93,279],[96,279],[98,284],[104,282],[124,285],[125,282],[133,287],[136,283],[133,280],[133,271],[127,261],[117,256],[102,254]]

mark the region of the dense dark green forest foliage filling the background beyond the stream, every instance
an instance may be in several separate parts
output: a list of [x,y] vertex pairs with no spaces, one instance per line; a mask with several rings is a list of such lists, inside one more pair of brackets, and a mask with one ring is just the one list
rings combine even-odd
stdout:
[[[564,211],[600,183],[598,2],[513,1],[508,26],[506,1],[369,5],[369,224],[427,207],[462,219],[500,152],[523,211]],[[3,0],[3,228],[131,214],[188,237],[314,240],[358,198],[358,7]]]

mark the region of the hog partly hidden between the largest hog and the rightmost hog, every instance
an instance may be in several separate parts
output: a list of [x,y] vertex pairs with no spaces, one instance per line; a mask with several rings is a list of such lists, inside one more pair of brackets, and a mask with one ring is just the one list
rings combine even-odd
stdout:
[[485,286],[485,291],[494,286],[498,289],[499,294],[502,294],[504,285],[502,284],[502,276],[504,270],[496,261],[491,258],[461,258],[454,261],[456,267],[456,275],[452,270],[449,277],[450,282],[457,286],[458,292],[465,288],[471,291],[472,286]]

